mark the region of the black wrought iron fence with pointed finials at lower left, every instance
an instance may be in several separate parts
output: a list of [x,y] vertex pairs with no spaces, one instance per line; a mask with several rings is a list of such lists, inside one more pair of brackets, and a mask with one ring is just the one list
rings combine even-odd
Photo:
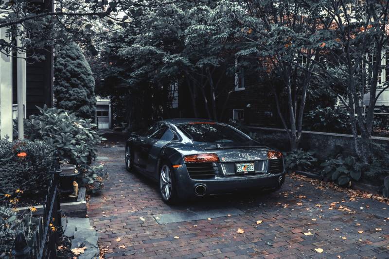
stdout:
[[43,205],[43,216],[39,217],[37,229],[33,235],[32,247],[29,247],[23,233],[18,233],[12,254],[15,259],[55,259],[58,238],[61,230],[61,206],[59,201],[59,167],[58,153],[53,155],[50,168],[52,180]]

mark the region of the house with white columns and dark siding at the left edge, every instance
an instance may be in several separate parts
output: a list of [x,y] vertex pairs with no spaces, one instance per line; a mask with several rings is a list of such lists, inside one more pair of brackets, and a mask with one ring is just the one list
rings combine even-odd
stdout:
[[[35,2],[35,1],[32,1]],[[51,2],[38,1],[43,8],[53,8]],[[0,16],[9,13],[2,11]],[[0,39],[9,42],[7,28],[0,28]],[[20,38],[14,38],[20,46]],[[13,53],[14,57],[4,52],[0,54],[0,138],[5,136],[23,139],[23,119],[36,113],[35,106],[53,105],[53,48],[51,46],[40,52],[44,59],[37,62],[26,58],[26,53]],[[19,116],[21,115],[21,116]],[[17,119],[18,134],[14,134],[13,120]]]

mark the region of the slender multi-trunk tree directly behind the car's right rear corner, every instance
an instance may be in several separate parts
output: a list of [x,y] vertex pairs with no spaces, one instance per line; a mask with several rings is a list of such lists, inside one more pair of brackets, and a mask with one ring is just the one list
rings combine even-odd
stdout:
[[[308,89],[323,48],[320,28],[299,0],[221,1],[220,8],[235,17],[246,41],[238,54],[262,61],[258,68],[268,84],[292,150],[299,146]],[[271,78],[271,80],[270,80]],[[274,80],[275,79],[275,80]],[[277,86],[274,82],[281,82]],[[282,111],[286,103],[287,114]]]

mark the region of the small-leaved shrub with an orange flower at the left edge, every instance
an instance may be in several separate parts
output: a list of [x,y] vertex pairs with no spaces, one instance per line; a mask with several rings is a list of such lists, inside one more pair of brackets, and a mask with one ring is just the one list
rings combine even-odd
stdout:
[[52,148],[40,140],[0,140],[0,192],[44,194],[50,182]]

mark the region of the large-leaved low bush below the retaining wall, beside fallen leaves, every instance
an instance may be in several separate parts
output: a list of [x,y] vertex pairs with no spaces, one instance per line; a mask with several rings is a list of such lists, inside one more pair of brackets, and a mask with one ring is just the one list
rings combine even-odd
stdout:
[[361,178],[361,169],[354,156],[349,155],[344,158],[343,155],[337,155],[335,159],[330,159],[321,163],[323,170],[321,175],[326,180],[332,180],[338,185],[346,185],[352,180],[359,181]]

